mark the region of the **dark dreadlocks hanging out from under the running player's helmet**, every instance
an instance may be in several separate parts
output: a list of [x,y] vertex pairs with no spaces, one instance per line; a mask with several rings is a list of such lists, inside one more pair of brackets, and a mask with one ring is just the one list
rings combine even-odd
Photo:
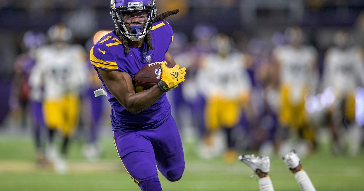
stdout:
[[[179,9],[175,9],[175,10],[172,10],[172,11],[166,11],[164,13],[157,13],[157,16],[155,16],[155,21],[154,22],[157,22],[157,21],[160,21],[160,20],[163,20],[163,19],[166,19],[168,16],[171,16],[171,15],[175,15],[179,12]],[[123,46],[124,46],[124,53],[126,55],[128,55],[130,53],[130,47],[129,47],[129,41],[128,41],[128,38],[123,35],[116,27],[115,27],[115,32],[116,32],[116,36],[119,37],[120,41],[123,43]],[[148,32],[146,35],[145,35],[145,41],[147,43],[147,46],[153,50],[154,49],[154,46],[152,44],[152,36],[150,34],[150,32]]]

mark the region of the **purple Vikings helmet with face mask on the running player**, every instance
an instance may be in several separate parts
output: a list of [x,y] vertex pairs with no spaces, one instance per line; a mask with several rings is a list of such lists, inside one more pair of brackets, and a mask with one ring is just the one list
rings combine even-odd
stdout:
[[116,29],[128,39],[139,41],[152,29],[154,0],[111,0],[110,6]]

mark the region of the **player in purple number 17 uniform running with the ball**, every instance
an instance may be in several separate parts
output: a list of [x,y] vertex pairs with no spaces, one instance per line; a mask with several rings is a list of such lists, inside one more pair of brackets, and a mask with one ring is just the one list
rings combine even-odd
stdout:
[[[166,92],[185,80],[185,68],[179,68],[168,52],[173,31],[163,20],[178,9],[157,14],[154,0],[111,0],[110,6],[115,30],[91,48],[90,61],[111,104],[122,164],[141,190],[159,191],[157,167],[169,181],[181,179],[185,169],[181,138],[166,98]],[[132,78],[155,62],[163,62],[161,80],[136,92]],[[167,68],[166,62],[174,67]]]

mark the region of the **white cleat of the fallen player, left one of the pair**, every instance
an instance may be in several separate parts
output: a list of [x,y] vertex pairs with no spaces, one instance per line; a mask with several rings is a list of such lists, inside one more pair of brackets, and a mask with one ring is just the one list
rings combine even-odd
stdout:
[[240,155],[238,158],[241,162],[249,166],[254,172],[261,170],[264,173],[269,172],[270,160],[268,156]]

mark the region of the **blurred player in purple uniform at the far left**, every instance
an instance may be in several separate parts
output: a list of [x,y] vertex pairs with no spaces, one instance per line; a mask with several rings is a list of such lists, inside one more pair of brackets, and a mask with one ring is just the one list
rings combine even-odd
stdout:
[[22,110],[22,124],[25,127],[27,107],[34,128],[34,139],[37,154],[37,163],[45,164],[44,143],[41,141],[41,131],[44,129],[44,120],[41,106],[41,89],[32,89],[30,72],[35,65],[34,52],[45,42],[45,36],[40,32],[28,31],[23,36],[23,54],[19,55],[15,62],[15,78],[13,80],[12,96],[10,100],[12,110]]

